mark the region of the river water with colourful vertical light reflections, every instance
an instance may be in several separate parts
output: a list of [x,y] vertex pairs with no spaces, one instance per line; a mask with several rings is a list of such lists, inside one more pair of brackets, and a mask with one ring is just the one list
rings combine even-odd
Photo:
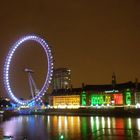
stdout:
[[0,140],[140,139],[140,118],[18,116],[0,123]]

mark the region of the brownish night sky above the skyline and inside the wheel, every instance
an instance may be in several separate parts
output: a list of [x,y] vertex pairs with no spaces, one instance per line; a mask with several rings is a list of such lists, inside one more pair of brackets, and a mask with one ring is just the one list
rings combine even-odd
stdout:
[[[52,46],[55,68],[72,72],[73,87],[140,79],[139,0],[12,0],[0,4],[0,92],[3,64],[20,37],[37,34]],[[27,47],[30,46],[30,47]],[[18,96],[27,94],[24,68],[35,70],[40,88],[47,72],[44,52],[36,43],[27,43],[15,54],[11,81]],[[25,78],[26,77],[26,78]],[[24,95],[23,95],[24,94]]]

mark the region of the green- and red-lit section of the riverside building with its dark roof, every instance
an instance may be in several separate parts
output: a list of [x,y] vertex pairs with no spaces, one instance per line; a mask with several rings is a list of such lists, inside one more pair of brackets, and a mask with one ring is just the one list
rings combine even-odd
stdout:
[[[81,94],[82,106],[122,106],[135,105],[138,92],[135,83],[127,82],[112,85],[86,85]],[[135,97],[136,95],[136,97]],[[137,101],[135,100],[137,99]]]

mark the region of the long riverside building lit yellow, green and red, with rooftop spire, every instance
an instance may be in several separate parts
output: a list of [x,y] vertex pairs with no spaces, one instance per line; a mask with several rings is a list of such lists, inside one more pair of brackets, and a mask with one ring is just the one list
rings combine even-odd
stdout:
[[140,108],[140,83],[116,83],[115,74],[112,84],[82,85],[81,88],[54,90],[50,105],[55,108],[79,107],[136,107]]

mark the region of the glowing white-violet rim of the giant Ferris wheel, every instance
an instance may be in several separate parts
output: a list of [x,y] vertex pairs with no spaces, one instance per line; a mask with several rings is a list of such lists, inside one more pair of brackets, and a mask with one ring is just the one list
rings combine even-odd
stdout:
[[[10,71],[11,60],[14,56],[14,53],[16,52],[17,48],[21,47],[22,44],[27,41],[35,41],[35,42],[39,43],[41,45],[41,47],[44,49],[46,57],[47,57],[47,61],[48,61],[48,71],[47,71],[47,75],[46,75],[45,82],[43,84],[42,89],[40,91],[38,91],[38,93],[35,96],[32,96],[32,99],[23,101],[23,100],[18,99],[12,91],[10,80],[9,80],[10,79],[9,71]],[[27,105],[33,101],[38,101],[48,90],[49,85],[52,80],[52,75],[53,75],[53,56],[51,53],[51,49],[49,48],[47,42],[44,39],[42,39],[36,35],[24,36],[21,39],[19,39],[11,47],[11,49],[6,57],[6,61],[5,61],[5,65],[4,65],[4,86],[5,86],[5,89],[8,93],[8,95],[10,96],[10,98],[13,101],[15,101],[16,103],[18,103],[20,105]]]

